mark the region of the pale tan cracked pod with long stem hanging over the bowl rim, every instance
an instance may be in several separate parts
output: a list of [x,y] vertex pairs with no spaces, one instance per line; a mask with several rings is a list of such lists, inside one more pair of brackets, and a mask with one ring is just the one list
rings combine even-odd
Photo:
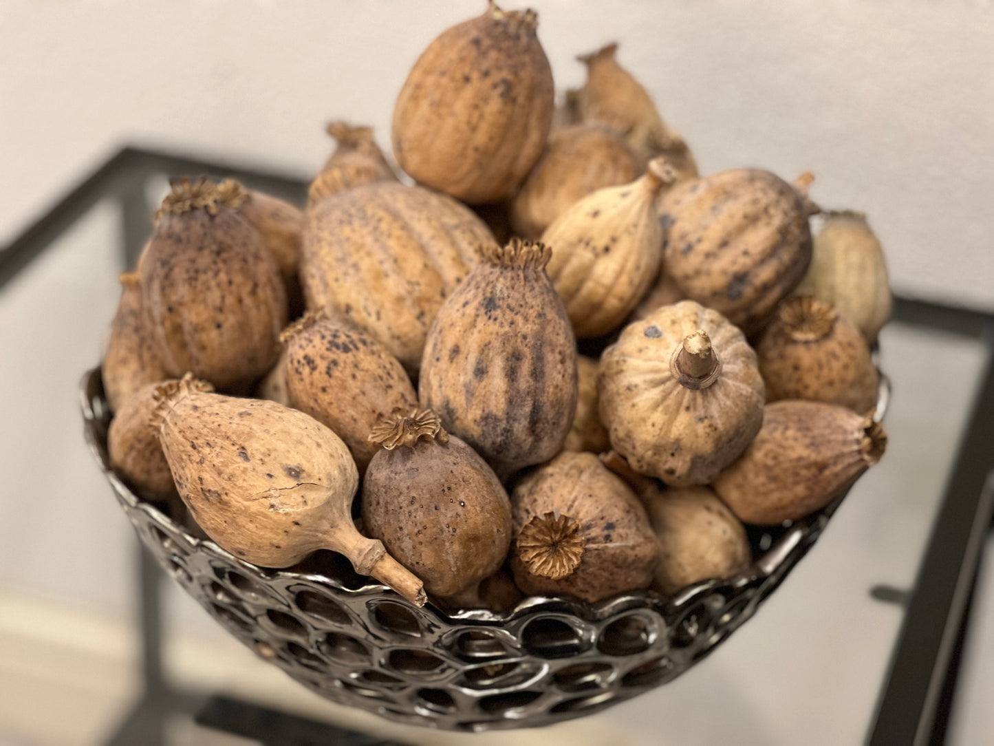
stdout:
[[152,422],[180,496],[232,554],[289,567],[318,549],[344,555],[418,606],[421,582],[352,522],[359,484],[341,439],[275,402],[198,391],[189,377],[160,387]]

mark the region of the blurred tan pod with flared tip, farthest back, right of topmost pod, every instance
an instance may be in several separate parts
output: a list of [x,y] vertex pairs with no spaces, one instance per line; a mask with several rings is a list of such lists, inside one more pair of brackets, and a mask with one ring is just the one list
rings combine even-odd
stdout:
[[584,122],[601,122],[624,135],[645,163],[664,156],[682,180],[697,176],[697,163],[686,141],[668,127],[649,93],[615,59],[617,44],[608,44],[577,59],[586,65],[586,85],[577,94]]

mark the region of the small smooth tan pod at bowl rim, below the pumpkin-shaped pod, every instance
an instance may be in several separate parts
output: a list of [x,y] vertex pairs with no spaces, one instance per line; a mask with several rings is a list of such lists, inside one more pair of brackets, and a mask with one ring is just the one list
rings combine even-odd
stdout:
[[659,541],[653,585],[664,595],[748,567],[745,527],[710,487],[651,487],[640,496]]

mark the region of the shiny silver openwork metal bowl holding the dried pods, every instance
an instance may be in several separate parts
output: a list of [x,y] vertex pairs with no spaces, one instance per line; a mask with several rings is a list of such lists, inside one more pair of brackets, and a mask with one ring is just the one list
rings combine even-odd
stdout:
[[[878,419],[890,391],[881,379]],[[672,598],[529,598],[508,614],[446,614],[418,609],[331,552],[270,570],[197,538],[110,469],[98,369],[83,376],[81,399],[86,441],[138,536],[223,627],[328,699],[448,730],[547,725],[671,681],[755,614],[843,499],[789,526],[750,529],[756,559],[747,571]]]

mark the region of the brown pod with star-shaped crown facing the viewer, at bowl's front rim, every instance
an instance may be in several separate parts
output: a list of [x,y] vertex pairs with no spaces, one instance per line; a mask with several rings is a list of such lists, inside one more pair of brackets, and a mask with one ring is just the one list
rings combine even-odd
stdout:
[[658,550],[645,508],[593,454],[532,471],[511,506],[511,569],[526,594],[593,603],[652,582]]

